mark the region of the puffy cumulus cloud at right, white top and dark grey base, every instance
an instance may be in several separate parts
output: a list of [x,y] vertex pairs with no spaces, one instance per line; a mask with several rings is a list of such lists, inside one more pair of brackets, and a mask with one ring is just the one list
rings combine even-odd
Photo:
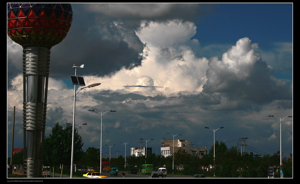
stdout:
[[257,104],[271,102],[274,96],[292,99],[287,84],[275,79],[273,69],[262,60],[258,46],[247,37],[241,38],[222,56],[211,58],[205,93],[221,93],[229,99],[243,99]]

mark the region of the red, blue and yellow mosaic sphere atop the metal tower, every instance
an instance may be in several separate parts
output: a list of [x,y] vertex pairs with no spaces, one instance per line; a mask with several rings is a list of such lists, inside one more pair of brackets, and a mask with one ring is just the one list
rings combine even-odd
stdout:
[[7,3],[7,34],[16,43],[54,46],[67,35],[70,3]]

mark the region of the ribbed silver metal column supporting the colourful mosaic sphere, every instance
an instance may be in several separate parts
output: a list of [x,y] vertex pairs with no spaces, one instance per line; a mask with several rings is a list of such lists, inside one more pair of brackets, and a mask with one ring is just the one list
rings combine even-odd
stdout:
[[24,177],[42,177],[49,46],[23,46]]

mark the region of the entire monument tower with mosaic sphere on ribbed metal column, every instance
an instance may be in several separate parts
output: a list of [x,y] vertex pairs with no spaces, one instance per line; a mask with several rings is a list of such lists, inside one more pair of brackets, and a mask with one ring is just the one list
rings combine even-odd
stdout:
[[67,35],[69,3],[7,3],[7,34],[23,47],[24,177],[42,177],[50,49]]

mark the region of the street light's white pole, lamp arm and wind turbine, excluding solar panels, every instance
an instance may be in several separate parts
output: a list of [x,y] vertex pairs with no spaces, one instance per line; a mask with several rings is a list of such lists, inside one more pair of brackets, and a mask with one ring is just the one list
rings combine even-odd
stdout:
[[[80,68],[83,68],[83,64],[80,66]],[[73,68],[75,69],[75,76],[76,76],[76,66],[74,65]],[[92,88],[95,86],[101,85],[101,83],[95,83],[95,84],[91,84],[88,85],[87,87],[84,88]],[[75,102],[76,102],[76,94],[79,93],[79,91],[81,91],[84,88],[80,88],[78,90],[76,90],[76,85],[74,85],[74,105],[73,105],[73,129],[72,129],[72,150],[71,150],[71,172],[70,172],[70,178],[73,177],[73,152],[74,152],[74,128],[75,128]],[[76,91],[78,91],[76,93]]]

